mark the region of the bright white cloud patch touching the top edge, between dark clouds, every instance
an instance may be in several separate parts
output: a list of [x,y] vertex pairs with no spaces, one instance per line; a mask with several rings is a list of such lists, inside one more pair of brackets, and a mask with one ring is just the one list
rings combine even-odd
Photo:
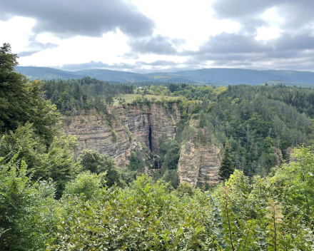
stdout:
[[213,0],[130,0],[156,22],[155,34],[185,39],[182,48],[197,50],[198,46],[222,32],[234,32],[239,25],[234,21],[213,19]]

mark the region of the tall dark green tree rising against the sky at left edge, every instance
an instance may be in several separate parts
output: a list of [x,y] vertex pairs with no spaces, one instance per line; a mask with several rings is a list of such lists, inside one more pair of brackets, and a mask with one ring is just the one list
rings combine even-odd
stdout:
[[16,73],[17,58],[9,43],[0,47],[0,133],[14,131],[29,121],[49,145],[60,121],[59,112],[51,101],[41,97],[39,81],[29,82],[26,76]]

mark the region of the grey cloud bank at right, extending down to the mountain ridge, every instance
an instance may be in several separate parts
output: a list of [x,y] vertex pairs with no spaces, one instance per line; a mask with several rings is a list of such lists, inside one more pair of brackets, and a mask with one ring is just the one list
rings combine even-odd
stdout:
[[[256,41],[253,35],[219,34],[200,46],[199,51],[183,51],[185,65],[231,68],[314,69],[314,37],[283,33],[278,39]],[[294,68],[293,68],[294,67]]]

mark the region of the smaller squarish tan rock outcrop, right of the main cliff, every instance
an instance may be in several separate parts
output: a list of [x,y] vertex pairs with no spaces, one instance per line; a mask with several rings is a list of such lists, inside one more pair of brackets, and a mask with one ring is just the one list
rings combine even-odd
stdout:
[[196,185],[202,187],[206,184],[216,185],[219,182],[220,165],[221,148],[208,142],[196,145],[193,140],[190,140],[181,146],[178,163],[179,181],[189,183],[193,187]]

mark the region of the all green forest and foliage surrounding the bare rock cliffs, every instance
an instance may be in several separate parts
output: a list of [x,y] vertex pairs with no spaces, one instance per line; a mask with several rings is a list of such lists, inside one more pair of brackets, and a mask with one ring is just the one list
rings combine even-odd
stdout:
[[[137,177],[130,180],[96,151],[74,161],[76,138],[60,125],[66,111],[96,108],[109,118],[108,94],[133,87],[87,77],[29,81],[16,65],[4,43],[1,251],[314,249],[312,89],[172,83],[157,88],[181,96],[167,102],[145,99],[159,91],[144,88],[134,106],[176,103],[181,122],[176,138],[158,149],[161,173],[140,172],[146,163],[133,153],[129,170]],[[213,188],[173,184],[181,145],[192,141],[225,148],[221,183]]]

